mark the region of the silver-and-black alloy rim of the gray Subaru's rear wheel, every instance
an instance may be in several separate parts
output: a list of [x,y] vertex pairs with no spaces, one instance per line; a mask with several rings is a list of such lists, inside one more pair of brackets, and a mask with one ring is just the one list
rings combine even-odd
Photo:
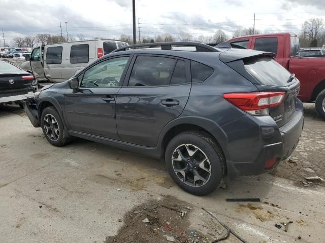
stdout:
[[209,158],[202,149],[192,144],[182,144],[174,150],[172,165],[177,177],[189,186],[203,186],[211,176]]

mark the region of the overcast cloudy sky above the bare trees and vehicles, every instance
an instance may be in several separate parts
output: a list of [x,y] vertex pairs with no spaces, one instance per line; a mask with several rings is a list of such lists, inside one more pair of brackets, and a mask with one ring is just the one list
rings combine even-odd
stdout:
[[[325,19],[324,0],[136,0],[140,35],[189,32],[212,35],[253,25],[262,32],[297,32],[309,18]],[[86,37],[132,35],[132,0],[0,0],[0,31],[16,36],[62,32]],[[2,33],[1,33],[2,34]],[[1,38],[2,40],[2,38]],[[0,42],[0,46],[3,42]]]

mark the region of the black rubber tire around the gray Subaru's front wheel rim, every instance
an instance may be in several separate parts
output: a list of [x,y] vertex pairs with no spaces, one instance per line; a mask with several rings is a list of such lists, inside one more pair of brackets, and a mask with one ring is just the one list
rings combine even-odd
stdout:
[[[57,124],[56,128],[58,128],[58,131],[59,131],[59,133],[58,133],[59,135],[57,136],[57,139],[51,139],[50,134],[53,132],[53,130],[52,130],[52,132],[50,132],[50,134],[48,134],[46,132],[46,129],[44,127],[44,123],[46,123],[46,121],[44,120],[44,118],[47,115],[53,116],[56,120],[56,124]],[[41,127],[42,127],[44,136],[47,139],[47,141],[49,141],[49,143],[54,146],[61,147],[71,141],[71,136],[66,134],[61,117],[53,106],[46,107],[43,110],[42,115],[41,115]]]

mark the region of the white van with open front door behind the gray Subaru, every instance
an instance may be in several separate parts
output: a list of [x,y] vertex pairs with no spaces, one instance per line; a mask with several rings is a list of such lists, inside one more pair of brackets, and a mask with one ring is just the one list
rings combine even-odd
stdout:
[[21,68],[31,72],[39,82],[61,83],[95,59],[124,46],[127,43],[112,39],[40,46],[32,50]]

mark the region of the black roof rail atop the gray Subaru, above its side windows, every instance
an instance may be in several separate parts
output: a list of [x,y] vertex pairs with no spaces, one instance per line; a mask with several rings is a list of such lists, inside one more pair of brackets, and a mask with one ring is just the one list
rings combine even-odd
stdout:
[[156,42],[156,43],[145,43],[145,44],[137,44],[137,45],[130,45],[115,49],[112,52],[120,52],[125,51],[128,48],[135,48],[135,47],[155,47],[161,46],[161,50],[173,50],[172,46],[182,46],[182,47],[196,47],[197,52],[219,52],[217,49],[210,47],[206,44],[197,43],[197,42]]

